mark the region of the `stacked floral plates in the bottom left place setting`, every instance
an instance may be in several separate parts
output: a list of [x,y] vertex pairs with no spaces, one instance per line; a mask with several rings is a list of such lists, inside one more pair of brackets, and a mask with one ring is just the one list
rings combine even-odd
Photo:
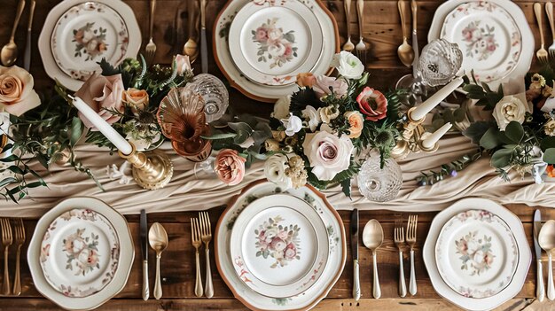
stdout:
[[96,198],[69,198],[36,224],[27,261],[38,292],[92,309],[121,292],[135,251],[125,218]]

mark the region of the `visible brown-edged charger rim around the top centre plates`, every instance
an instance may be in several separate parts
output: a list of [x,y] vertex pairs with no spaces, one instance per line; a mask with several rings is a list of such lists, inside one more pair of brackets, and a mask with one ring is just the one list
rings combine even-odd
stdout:
[[[316,15],[319,28],[321,29],[325,40],[319,61],[311,72],[316,75],[328,74],[330,72],[330,62],[332,61],[333,55],[340,51],[339,32],[335,18],[332,13],[325,8],[325,5],[321,2],[321,0],[256,0],[256,3],[261,5],[280,5],[280,3],[289,1],[301,2],[301,4],[304,4],[312,12],[314,12],[314,15]],[[298,87],[296,84],[263,85],[261,83],[253,82],[247,78],[245,74],[238,70],[235,60],[231,57],[230,46],[228,43],[231,23],[241,8],[251,2],[254,2],[254,0],[229,0],[218,17],[215,19],[213,41],[214,58],[223,75],[225,75],[226,79],[231,83],[232,87],[238,89],[247,97],[251,97],[255,100],[275,103],[278,98],[290,95],[297,90]]]

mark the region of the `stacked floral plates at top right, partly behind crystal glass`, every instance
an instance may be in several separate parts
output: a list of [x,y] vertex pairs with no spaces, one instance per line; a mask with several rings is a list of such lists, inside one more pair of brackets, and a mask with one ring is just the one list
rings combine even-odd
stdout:
[[534,35],[517,4],[509,0],[450,0],[437,9],[428,42],[446,39],[463,52],[463,69],[492,89],[521,79],[532,62]]

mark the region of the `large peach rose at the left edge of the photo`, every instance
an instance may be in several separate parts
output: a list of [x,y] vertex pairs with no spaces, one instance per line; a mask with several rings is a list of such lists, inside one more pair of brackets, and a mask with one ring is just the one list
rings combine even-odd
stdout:
[[33,76],[27,70],[18,66],[0,66],[0,107],[19,117],[41,105],[34,85]]

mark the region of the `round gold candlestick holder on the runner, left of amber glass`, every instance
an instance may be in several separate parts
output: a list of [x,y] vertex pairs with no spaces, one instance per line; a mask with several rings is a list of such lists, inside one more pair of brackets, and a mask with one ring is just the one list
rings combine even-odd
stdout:
[[137,152],[135,144],[131,144],[131,147],[133,150],[130,154],[118,154],[133,165],[133,178],[137,184],[148,190],[164,188],[174,175],[174,166],[168,155],[157,150]]

